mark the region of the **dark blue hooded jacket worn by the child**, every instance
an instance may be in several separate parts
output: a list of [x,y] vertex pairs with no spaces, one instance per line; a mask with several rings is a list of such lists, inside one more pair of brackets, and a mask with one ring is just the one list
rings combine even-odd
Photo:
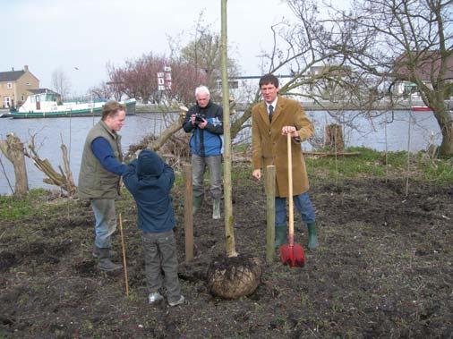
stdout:
[[175,227],[170,190],[173,169],[150,149],[143,149],[123,175],[123,182],[137,205],[137,226],[146,233],[162,233]]

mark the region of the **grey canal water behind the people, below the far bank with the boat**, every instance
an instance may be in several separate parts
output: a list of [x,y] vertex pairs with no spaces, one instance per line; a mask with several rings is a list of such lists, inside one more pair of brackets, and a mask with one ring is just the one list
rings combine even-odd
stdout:
[[[324,127],[328,123],[338,123],[331,114],[325,111],[307,112],[316,126],[316,137],[312,143],[304,142],[303,149],[311,150],[321,145]],[[175,115],[173,116],[175,117]],[[6,134],[14,132],[27,145],[30,136],[35,135],[35,146],[41,158],[47,158],[57,168],[63,165],[61,144],[69,151],[73,178],[77,184],[81,151],[88,131],[98,122],[98,117],[47,118],[47,119],[0,119],[0,140]],[[159,134],[171,120],[171,116],[158,113],[144,113],[128,116],[120,131],[124,152],[130,145],[140,141],[144,136]],[[379,116],[370,119],[356,111],[341,115],[339,123],[343,126],[346,146],[364,146],[377,150],[416,152],[426,149],[431,143],[440,144],[439,126],[432,112],[380,112]],[[387,123],[386,123],[387,122]],[[387,136],[387,137],[386,137]],[[408,140],[410,142],[408,143]],[[250,130],[244,130],[234,140],[235,143],[250,142]],[[0,152],[0,194],[11,194],[8,181],[14,186],[13,165]],[[30,188],[56,188],[42,182],[42,174],[29,158],[26,158]],[[3,165],[3,166],[2,166]]]

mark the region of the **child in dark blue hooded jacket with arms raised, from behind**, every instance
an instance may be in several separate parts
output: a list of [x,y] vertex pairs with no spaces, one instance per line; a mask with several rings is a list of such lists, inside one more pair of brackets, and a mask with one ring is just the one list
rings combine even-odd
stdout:
[[[146,281],[150,304],[162,301],[159,290],[167,289],[170,306],[184,303],[177,274],[175,213],[170,190],[175,182],[173,169],[150,149],[143,149],[123,175],[123,182],[137,205],[137,226],[145,255]],[[162,271],[164,275],[162,275]]]

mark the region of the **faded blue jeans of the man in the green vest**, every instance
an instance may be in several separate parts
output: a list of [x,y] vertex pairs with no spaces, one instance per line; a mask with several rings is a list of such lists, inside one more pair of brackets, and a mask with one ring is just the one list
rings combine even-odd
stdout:
[[116,229],[115,199],[92,199],[91,208],[94,211],[96,225],[94,241],[98,249],[112,247],[111,235]]

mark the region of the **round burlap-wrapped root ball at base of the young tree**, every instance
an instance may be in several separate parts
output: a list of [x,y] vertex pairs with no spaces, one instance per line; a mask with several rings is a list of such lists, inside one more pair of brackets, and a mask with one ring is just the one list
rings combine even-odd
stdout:
[[236,299],[255,292],[261,282],[261,261],[249,255],[214,258],[206,274],[209,292]]

